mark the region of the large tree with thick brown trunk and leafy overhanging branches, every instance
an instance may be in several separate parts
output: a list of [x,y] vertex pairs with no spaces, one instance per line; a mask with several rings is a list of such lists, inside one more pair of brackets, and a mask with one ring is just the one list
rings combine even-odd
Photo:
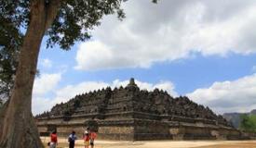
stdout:
[[[100,25],[104,15],[116,13],[119,19],[123,19],[125,16],[120,8],[122,2],[123,0],[0,2],[0,19],[14,29],[11,33],[5,32],[5,35],[15,37],[16,33],[16,37],[21,39],[14,89],[0,111],[1,148],[43,147],[31,112],[34,76],[43,37],[47,35],[47,46],[58,44],[62,49],[68,50],[76,41],[88,40],[88,30]],[[5,28],[2,23],[1,28]]]

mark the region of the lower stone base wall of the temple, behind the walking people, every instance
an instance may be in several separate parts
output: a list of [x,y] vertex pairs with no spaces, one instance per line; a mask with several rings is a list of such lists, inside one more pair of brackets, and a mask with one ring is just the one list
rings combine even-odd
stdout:
[[[60,122],[59,124],[38,124],[40,133],[52,131],[56,128],[59,136],[67,137],[72,130],[82,136],[87,127],[88,120]],[[238,140],[242,139],[241,132],[236,129],[218,127],[207,124],[162,122],[149,119],[123,119],[123,120],[97,120],[98,139],[103,140]],[[54,120],[56,123],[56,119]],[[93,128],[91,128],[93,129]],[[245,136],[244,136],[245,137]],[[81,137],[82,138],[82,137]]]

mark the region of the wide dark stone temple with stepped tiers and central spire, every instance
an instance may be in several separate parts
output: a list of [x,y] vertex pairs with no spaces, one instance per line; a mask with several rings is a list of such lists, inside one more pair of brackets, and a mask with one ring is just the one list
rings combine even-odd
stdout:
[[65,104],[35,117],[41,135],[57,129],[59,136],[72,130],[82,135],[89,127],[105,140],[234,140],[242,132],[209,107],[186,96],[140,90],[129,81],[125,88],[110,87],[79,94]]

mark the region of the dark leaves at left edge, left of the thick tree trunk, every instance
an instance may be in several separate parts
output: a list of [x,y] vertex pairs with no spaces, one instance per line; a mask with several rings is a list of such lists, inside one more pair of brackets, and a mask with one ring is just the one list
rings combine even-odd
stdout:
[[11,1],[0,5],[0,96],[7,98],[13,88],[14,75],[18,66],[18,56],[23,35],[20,32],[22,15],[15,7],[21,6]]

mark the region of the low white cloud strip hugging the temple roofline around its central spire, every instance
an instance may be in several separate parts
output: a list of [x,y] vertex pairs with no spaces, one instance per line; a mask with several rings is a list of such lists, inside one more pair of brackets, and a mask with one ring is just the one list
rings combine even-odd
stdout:
[[[167,91],[170,95],[178,95],[175,92],[175,87],[171,81],[160,81],[158,83],[148,83],[139,80],[135,80],[137,85],[142,89],[153,91],[155,88]],[[128,80],[114,80],[112,82],[104,81],[84,81],[75,85],[68,85],[61,89],[54,90],[54,96],[51,98],[44,97],[44,95],[35,96],[33,99],[33,113],[38,114],[49,110],[53,105],[67,102],[77,94],[88,93],[97,91],[102,88],[110,86],[112,89],[120,86],[127,86]]]

